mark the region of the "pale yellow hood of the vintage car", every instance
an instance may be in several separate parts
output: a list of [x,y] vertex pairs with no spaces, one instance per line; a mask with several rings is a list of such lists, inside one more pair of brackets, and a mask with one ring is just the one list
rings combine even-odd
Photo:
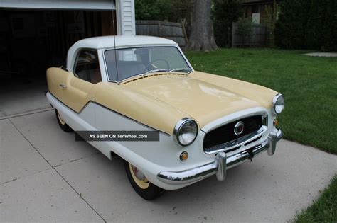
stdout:
[[147,76],[124,82],[122,86],[171,105],[195,119],[200,127],[225,115],[263,106],[240,94],[240,88],[232,91],[191,75]]

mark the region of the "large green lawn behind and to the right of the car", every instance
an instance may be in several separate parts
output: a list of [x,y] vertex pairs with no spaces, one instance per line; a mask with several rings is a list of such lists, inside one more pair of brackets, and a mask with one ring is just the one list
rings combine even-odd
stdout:
[[267,86],[286,98],[284,138],[337,154],[337,58],[303,50],[186,52],[194,69]]

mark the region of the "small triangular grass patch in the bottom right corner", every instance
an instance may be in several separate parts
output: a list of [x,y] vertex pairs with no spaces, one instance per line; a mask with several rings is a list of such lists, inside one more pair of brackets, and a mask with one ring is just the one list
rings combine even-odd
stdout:
[[337,222],[337,176],[313,205],[296,215],[294,222]]

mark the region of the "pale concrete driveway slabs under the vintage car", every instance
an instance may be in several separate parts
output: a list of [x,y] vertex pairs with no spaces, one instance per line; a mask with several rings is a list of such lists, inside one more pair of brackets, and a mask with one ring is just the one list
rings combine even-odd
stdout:
[[336,174],[337,158],[282,140],[266,153],[155,201],[137,195],[122,160],[112,161],[53,110],[0,120],[0,221],[286,222]]

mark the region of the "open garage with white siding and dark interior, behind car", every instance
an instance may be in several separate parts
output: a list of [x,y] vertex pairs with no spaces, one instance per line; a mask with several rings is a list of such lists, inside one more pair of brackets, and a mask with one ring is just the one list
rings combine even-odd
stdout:
[[48,109],[46,69],[77,40],[114,33],[135,34],[134,0],[0,1],[0,118]]

